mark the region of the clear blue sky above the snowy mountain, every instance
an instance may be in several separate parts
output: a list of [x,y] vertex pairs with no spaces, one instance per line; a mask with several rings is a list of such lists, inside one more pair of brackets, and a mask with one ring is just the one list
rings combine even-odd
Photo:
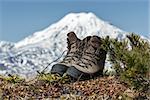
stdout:
[[149,0],[0,0],[0,40],[17,42],[70,12],[93,12],[117,27],[148,36]]

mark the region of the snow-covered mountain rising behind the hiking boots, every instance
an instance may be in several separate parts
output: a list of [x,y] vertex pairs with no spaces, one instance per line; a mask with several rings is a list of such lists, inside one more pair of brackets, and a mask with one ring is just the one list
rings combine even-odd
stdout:
[[[70,31],[74,31],[80,39],[89,35],[109,35],[111,38],[122,40],[127,34],[93,13],[71,13],[48,28],[15,43],[12,45],[13,49],[0,52],[0,74],[35,76],[36,71],[42,71],[67,49],[66,38]],[[2,48],[0,45],[0,50]],[[110,66],[108,61],[106,66]],[[51,67],[48,68],[47,71]]]

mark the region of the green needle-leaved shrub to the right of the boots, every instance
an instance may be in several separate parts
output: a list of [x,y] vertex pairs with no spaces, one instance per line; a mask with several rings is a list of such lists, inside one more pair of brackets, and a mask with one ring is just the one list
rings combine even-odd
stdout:
[[147,91],[150,86],[149,42],[134,33],[123,41],[108,37],[104,40],[116,76],[138,91]]

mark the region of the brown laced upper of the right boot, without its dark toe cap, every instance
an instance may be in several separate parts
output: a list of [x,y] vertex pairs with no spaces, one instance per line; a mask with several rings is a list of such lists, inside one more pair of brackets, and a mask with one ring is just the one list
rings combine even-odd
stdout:
[[82,56],[73,66],[85,73],[103,71],[106,52],[100,49],[101,39],[98,36],[87,37],[82,41],[84,44]]

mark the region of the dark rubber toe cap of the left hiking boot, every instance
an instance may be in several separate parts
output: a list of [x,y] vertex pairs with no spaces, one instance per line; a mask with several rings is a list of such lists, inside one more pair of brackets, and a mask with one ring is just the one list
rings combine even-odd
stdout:
[[52,74],[58,73],[59,75],[62,76],[67,71],[68,68],[69,67],[66,65],[55,64],[52,66],[51,73]]

